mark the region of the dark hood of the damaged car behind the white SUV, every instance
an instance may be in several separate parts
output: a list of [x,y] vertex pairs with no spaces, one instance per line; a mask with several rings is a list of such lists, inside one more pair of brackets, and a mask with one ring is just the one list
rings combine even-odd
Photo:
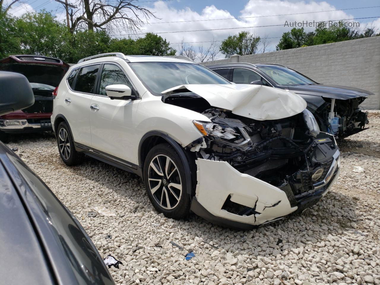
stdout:
[[340,100],[367,97],[374,94],[359,88],[328,84],[289,86],[289,90],[300,95],[319,95]]

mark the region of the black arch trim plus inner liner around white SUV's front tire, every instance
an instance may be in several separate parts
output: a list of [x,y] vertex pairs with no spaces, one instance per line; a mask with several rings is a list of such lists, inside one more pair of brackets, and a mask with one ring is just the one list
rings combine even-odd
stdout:
[[[178,142],[162,131],[149,131],[142,136],[138,149],[139,168],[142,169],[141,173],[143,173],[144,160],[147,153],[152,147],[161,143],[168,143],[176,150],[184,165],[185,175],[187,175],[187,192],[193,196],[195,194],[195,188],[193,188],[193,186],[196,185],[196,176],[192,175],[195,174],[193,172],[194,169],[196,169],[195,159],[192,159],[192,154],[189,154],[189,151],[186,151]],[[141,178],[144,180],[144,177]]]

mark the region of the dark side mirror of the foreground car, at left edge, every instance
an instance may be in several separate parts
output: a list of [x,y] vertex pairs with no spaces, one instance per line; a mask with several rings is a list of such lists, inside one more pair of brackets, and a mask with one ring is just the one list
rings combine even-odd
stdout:
[[0,116],[34,104],[28,79],[15,72],[0,71],[0,98]]

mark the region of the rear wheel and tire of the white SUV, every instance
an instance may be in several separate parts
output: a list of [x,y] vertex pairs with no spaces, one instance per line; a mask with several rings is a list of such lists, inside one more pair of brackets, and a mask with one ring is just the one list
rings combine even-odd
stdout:
[[77,165],[82,162],[84,155],[75,150],[74,139],[67,123],[62,122],[57,128],[57,145],[59,155],[63,162],[68,165]]

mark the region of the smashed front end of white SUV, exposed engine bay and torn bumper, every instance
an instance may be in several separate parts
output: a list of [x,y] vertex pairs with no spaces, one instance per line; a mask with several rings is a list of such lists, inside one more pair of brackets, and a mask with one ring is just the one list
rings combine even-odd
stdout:
[[[261,225],[317,203],[338,176],[334,136],[320,132],[307,109],[255,120],[211,106],[193,92],[164,95],[162,101],[211,121],[193,121],[203,136],[185,147],[198,166],[192,206],[198,215]],[[207,175],[217,175],[217,182]]]

